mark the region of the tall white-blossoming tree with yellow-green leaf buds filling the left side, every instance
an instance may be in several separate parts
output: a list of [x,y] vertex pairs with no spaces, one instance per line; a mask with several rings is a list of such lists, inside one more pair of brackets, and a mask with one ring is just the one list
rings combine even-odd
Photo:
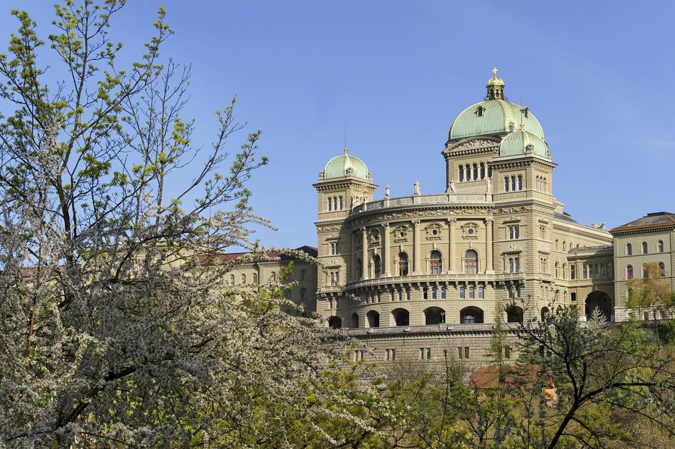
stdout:
[[189,69],[160,58],[163,10],[145,54],[118,67],[108,33],[124,3],[57,5],[49,76],[37,24],[12,12],[19,30],[0,55],[0,437],[271,447],[300,426],[340,443],[321,426],[335,415],[375,432],[355,419],[375,396],[326,386],[336,355],[313,319],[280,312],[283,286],[222,285],[245,260],[209,255],[265,254],[249,240],[267,222],[245,188],[267,163],[260,133],[227,153],[242,128],[232,102],[196,148],[180,116]]

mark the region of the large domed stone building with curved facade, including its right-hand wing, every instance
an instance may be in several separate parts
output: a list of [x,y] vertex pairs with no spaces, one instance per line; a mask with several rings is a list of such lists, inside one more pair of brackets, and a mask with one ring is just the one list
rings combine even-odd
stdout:
[[539,120],[506,100],[493,73],[484,99],[450,125],[444,192],[422,194],[416,182],[411,196],[386,186],[374,197],[376,177],[346,148],[313,184],[311,309],[360,342],[355,360],[480,362],[498,317],[530,320],[552,305],[625,320],[626,281],[649,262],[675,290],[675,215],[614,230],[575,221],[553,195],[557,164]]

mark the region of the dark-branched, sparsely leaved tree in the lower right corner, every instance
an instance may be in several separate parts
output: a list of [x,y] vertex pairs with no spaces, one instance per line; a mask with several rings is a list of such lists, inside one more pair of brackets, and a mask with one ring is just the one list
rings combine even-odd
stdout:
[[523,323],[520,333],[520,362],[557,387],[557,405],[542,416],[545,432],[535,447],[604,446],[621,438],[622,426],[611,419],[616,410],[675,436],[675,367],[653,333],[635,322],[610,325],[598,314],[581,323],[575,307]]

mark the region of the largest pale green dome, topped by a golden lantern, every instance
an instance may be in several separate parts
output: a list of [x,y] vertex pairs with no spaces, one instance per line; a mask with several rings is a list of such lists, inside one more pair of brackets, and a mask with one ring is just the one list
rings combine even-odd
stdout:
[[518,129],[521,122],[525,131],[543,140],[541,124],[529,109],[506,100],[486,100],[464,109],[455,118],[450,126],[449,138],[452,140],[477,135],[508,133]]

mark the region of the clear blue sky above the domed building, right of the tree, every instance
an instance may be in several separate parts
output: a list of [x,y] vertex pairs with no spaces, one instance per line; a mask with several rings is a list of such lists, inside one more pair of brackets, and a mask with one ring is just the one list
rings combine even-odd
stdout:
[[[51,32],[52,3],[0,1],[0,49],[26,9]],[[318,173],[344,146],[380,185],[375,197],[444,191],[440,154],[453,119],[499,67],[506,96],[541,122],[554,195],[574,219],[607,227],[675,212],[675,2],[129,1],[115,19],[141,54],[154,12],[176,35],[165,54],[192,65],[186,116],[198,144],[236,94],[270,164],[249,185],[278,231],[265,245],[316,245]],[[236,149],[245,139],[231,141]],[[187,176],[186,176],[187,182]]]

